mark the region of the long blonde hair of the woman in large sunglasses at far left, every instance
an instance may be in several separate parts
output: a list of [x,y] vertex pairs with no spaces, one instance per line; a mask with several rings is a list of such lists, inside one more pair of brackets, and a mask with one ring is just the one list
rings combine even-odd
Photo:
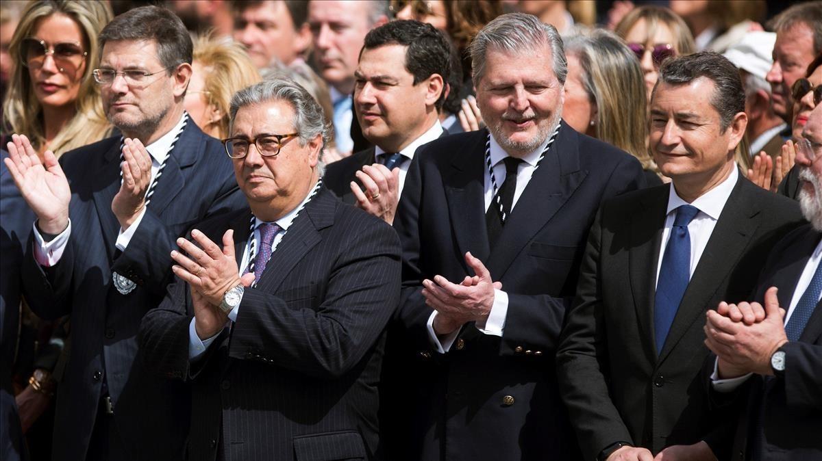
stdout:
[[25,134],[36,149],[43,148],[46,141],[43,107],[35,95],[28,69],[20,64],[20,47],[23,39],[34,33],[35,25],[41,19],[58,13],[72,18],[72,21],[80,26],[83,46],[88,52],[80,90],[74,102],[76,113],[48,146],[59,156],[73,148],[99,141],[111,132],[111,126],[103,111],[99,88],[91,75],[100,55],[97,36],[113,18],[107,2],[36,0],[26,5],[9,44],[9,53],[15,66],[9,81],[6,101],[3,103],[3,117],[6,119],[4,124],[10,126],[12,132]]

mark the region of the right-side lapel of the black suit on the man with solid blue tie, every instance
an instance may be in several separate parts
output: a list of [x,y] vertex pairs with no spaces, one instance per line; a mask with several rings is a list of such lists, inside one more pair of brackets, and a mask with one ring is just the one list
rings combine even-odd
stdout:
[[[750,239],[756,233],[760,222],[755,217],[760,213],[760,207],[750,195],[746,193],[746,179],[740,177],[734,186],[730,197],[725,203],[722,214],[708,240],[708,244],[696,265],[694,275],[691,276],[688,288],[682,296],[682,301],[674,317],[671,331],[668,332],[665,345],[659,354],[662,362],[671,350],[677,345],[691,324],[704,316],[710,306],[718,287],[723,285],[742,252],[750,244]],[[754,187],[750,185],[750,187]]]

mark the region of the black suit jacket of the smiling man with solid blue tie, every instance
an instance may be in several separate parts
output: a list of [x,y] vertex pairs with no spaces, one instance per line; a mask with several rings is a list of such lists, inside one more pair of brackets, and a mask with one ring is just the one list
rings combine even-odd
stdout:
[[[669,191],[663,185],[609,200],[591,228],[556,354],[586,459],[617,441],[656,454],[721,426],[700,379],[705,311],[750,294],[768,249],[801,222],[796,203],[740,176],[658,355],[653,299]],[[716,452],[717,440],[706,441]]]

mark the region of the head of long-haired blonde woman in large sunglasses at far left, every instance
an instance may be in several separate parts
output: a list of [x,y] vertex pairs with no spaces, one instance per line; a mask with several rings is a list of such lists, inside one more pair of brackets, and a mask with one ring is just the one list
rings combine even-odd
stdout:
[[[108,2],[29,2],[12,36],[15,63],[3,102],[3,132],[22,133],[56,155],[111,133],[92,78]],[[5,148],[5,144],[2,145]]]

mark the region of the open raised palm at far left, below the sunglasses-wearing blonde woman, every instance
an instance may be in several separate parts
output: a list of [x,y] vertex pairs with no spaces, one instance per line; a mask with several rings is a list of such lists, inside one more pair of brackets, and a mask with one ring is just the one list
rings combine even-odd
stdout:
[[72,190],[57,157],[50,150],[39,157],[25,135],[12,135],[7,147],[6,167],[25,203],[37,215],[37,226],[48,234],[60,234],[68,226]]

